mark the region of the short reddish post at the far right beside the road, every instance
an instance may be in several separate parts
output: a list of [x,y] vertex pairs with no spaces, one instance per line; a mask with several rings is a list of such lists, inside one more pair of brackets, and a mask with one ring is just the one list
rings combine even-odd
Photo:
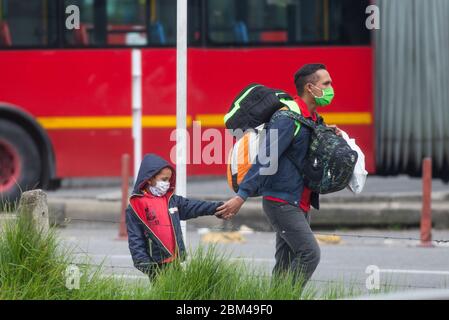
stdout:
[[421,246],[432,246],[432,159],[425,158],[422,167]]

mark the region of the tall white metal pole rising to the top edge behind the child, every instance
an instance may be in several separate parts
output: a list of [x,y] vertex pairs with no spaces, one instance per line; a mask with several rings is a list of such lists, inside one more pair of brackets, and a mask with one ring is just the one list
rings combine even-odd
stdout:
[[[187,184],[187,0],[176,6],[176,193],[186,196]],[[186,223],[181,222],[186,243]]]

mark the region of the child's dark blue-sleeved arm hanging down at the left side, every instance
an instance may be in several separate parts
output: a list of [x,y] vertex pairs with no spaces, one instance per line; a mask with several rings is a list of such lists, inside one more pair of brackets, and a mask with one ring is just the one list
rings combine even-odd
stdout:
[[134,266],[146,273],[151,264],[147,252],[145,235],[141,222],[137,219],[130,207],[126,209],[126,228],[128,230],[129,251],[133,258]]

